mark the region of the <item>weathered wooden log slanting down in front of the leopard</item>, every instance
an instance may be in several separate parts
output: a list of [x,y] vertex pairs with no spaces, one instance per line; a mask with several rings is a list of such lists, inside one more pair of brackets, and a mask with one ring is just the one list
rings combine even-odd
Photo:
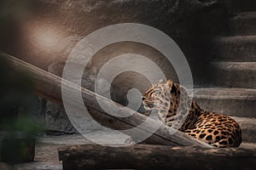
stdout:
[[[113,105],[113,104],[119,105],[117,103],[114,103],[112,100],[103,98],[102,96],[99,96],[98,94],[95,94],[88,89],[79,87],[73,82],[68,82],[67,80],[63,80],[61,77],[57,77],[49,73],[48,71],[44,71],[34,65],[30,65],[20,59],[16,59],[15,57],[10,56],[9,54],[4,54],[3,52],[0,52],[0,56],[3,59],[7,59],[9,61],[9,63],[11,64],[10,69],[26,71],[27,73],[29,73],[36,84],[35,86],[36,93],[55,103],[58,103],[58,104],[62,103],[62,98],[61,98],[61,81],[62,81],[63,83],[62,90],[65,91],[65,93],[70,94],[69,95],[70,99],[68,99],[70,101],[69,102],[70,105],[72,105],[73,108],[76,109],[76,111],[81,111],[82,105],[79,105],[79,99],[73,98],[73,93],[79,92],[81,90],[84,104],[90,110],[91,116],[93,116],[97,122],[101,122],[102,125],[106,127],[111,127],[113,129],[119,129],[123,127],[125,128],[137,127],[148,118],[148,116],[144,116],[143,114],[132,111],[129,108],[125,108],[124,110],[130,113],[130,115],[132,116],[129,116],[129,117],[111,116],[105,111],[103,111],[101,107],[98,106],[95,98],[97,96],[98,99],[100,99],[106,105]],[[154,123],[159,123],[159,122],[156,122],[155,120],[151,119],[146,125],[137,127],[138,128],[137,133],[126,132],[126,134],[132,136],[132,135],[141,135],[142,133],[146,133],[146,134],[148,133],[148,136],[150,136],[146,140],[148,144],[165,144],[165,145],[173,145],[173,146],[195,144],[204,148],[212,147],[209,144],[203,143],[200,140],[197,140],[179,131],[171,135],[170,132],[172,128],[167,127],[165,125],[162,125],[160,128],[158,128],[158,130],[155,133],[151,135],[151,133],[148,132],[148,128],[152,127]]]

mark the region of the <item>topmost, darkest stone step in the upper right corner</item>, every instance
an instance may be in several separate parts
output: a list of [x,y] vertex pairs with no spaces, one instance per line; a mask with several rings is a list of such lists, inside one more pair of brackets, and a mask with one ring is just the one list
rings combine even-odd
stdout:
[[256,11],[244,12],[231,18],[230,34],[236,36],[256,35]]

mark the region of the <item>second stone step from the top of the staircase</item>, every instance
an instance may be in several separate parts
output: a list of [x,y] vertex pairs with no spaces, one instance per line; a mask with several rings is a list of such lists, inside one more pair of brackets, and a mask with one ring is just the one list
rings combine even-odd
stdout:
[[218,37],[212,53],[214,60],[256,62],[256,36]]

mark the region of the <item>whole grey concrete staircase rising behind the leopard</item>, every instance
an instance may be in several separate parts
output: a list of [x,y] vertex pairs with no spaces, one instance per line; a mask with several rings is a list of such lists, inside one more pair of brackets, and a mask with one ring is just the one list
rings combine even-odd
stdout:
[[194,97],[207,111],[233,116],[243,142],[256,143],[256,11],[230,18],[229,32],[213,43],[212,88],[197,88]]

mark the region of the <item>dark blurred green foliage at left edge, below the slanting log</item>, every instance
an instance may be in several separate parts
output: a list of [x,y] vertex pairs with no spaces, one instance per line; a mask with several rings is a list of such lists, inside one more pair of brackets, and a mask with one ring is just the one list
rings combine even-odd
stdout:
[[11,69],[2,56],[0,65],[0,160],[32,161],[35,138],[43,132],[33,117],[33,82],[26,71]]

